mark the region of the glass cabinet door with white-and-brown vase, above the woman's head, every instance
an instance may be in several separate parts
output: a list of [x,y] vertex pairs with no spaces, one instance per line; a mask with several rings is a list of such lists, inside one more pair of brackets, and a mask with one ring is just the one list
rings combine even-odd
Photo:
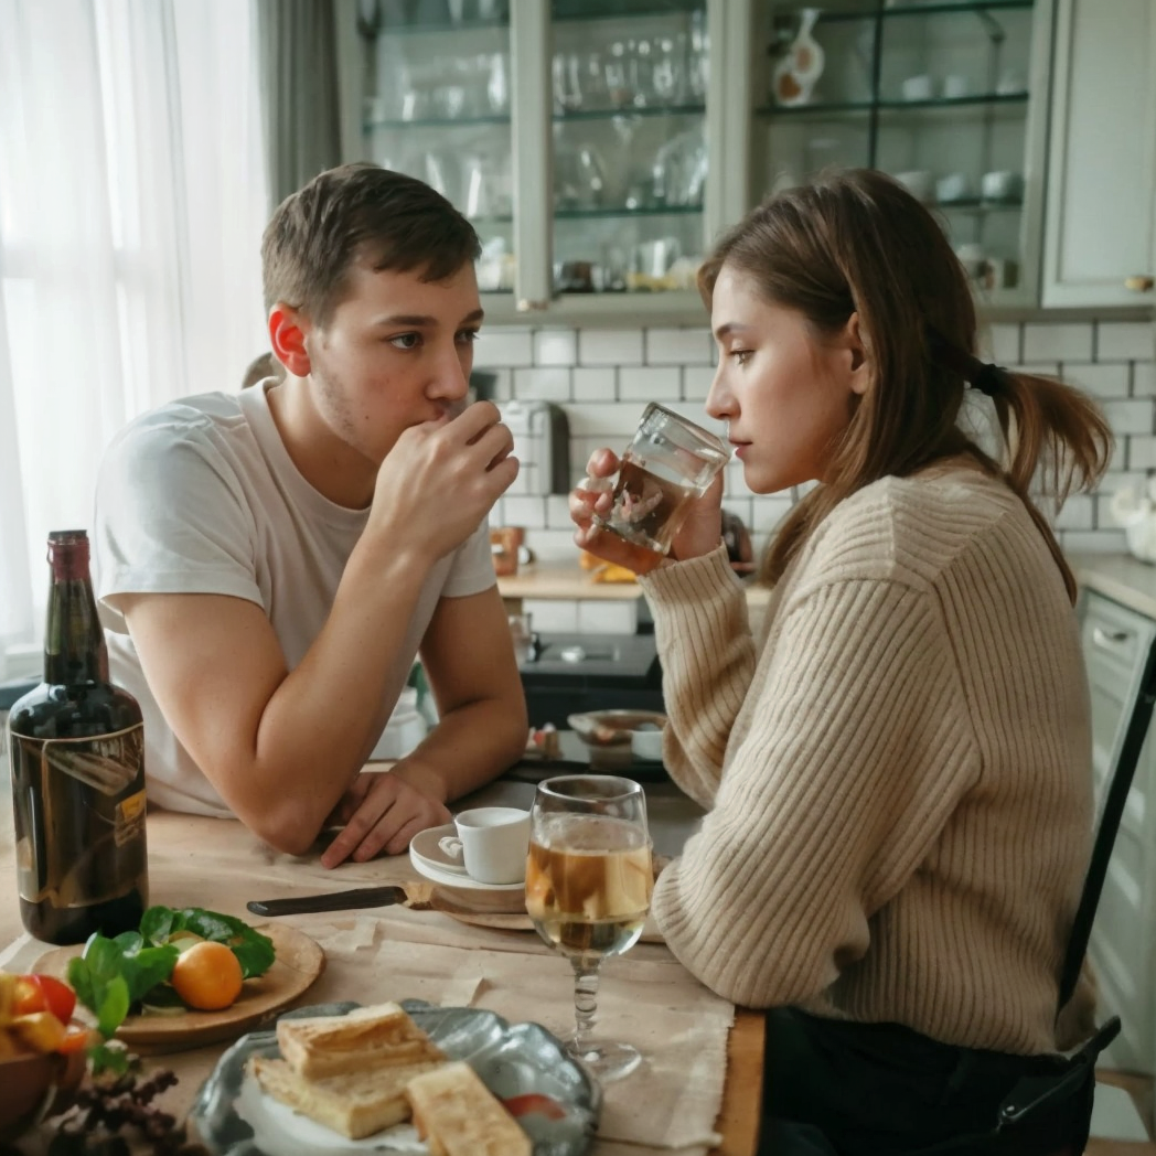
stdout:
[[901,180],[936,214],[977,291],[1035,299],[1050,0],[765,3],[753,202],[828,165]]

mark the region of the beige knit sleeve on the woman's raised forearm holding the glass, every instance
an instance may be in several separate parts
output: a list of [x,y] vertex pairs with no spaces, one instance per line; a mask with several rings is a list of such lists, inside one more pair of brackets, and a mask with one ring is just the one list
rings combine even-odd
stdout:
[[719,547],[639,578],[654,612],[669,721],[662,762],[695,802],[714,802],[722,757],[755,670],[747,599]]

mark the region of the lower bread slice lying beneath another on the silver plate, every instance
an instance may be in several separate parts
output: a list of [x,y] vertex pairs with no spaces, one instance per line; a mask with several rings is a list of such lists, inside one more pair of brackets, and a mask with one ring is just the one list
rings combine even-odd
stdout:
[[253,1055],[249,1069],[274,1099],[350,1140],[361,1140],[408,1120],[406,1084],[440,1062],[423,1060],[311,1080],[284,1060]]

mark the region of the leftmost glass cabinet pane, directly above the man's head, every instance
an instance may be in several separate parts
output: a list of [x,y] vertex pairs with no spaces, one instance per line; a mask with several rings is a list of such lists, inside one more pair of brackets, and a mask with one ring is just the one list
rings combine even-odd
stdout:
[[[474,224],[477,283],[514,283],[510,0],[357,0],[342,151],[427,181]],[[356,39],[349,21],[356,24]],[[351,58],[351,59],[348,59]]]

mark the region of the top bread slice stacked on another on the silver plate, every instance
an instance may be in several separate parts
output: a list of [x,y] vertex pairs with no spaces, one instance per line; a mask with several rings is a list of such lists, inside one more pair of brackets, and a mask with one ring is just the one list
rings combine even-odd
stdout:
[[445,1059],[397,1003],[375,1003],[348,1015],[279,1020],[277,1046],[294,1072],[309,1080]]

